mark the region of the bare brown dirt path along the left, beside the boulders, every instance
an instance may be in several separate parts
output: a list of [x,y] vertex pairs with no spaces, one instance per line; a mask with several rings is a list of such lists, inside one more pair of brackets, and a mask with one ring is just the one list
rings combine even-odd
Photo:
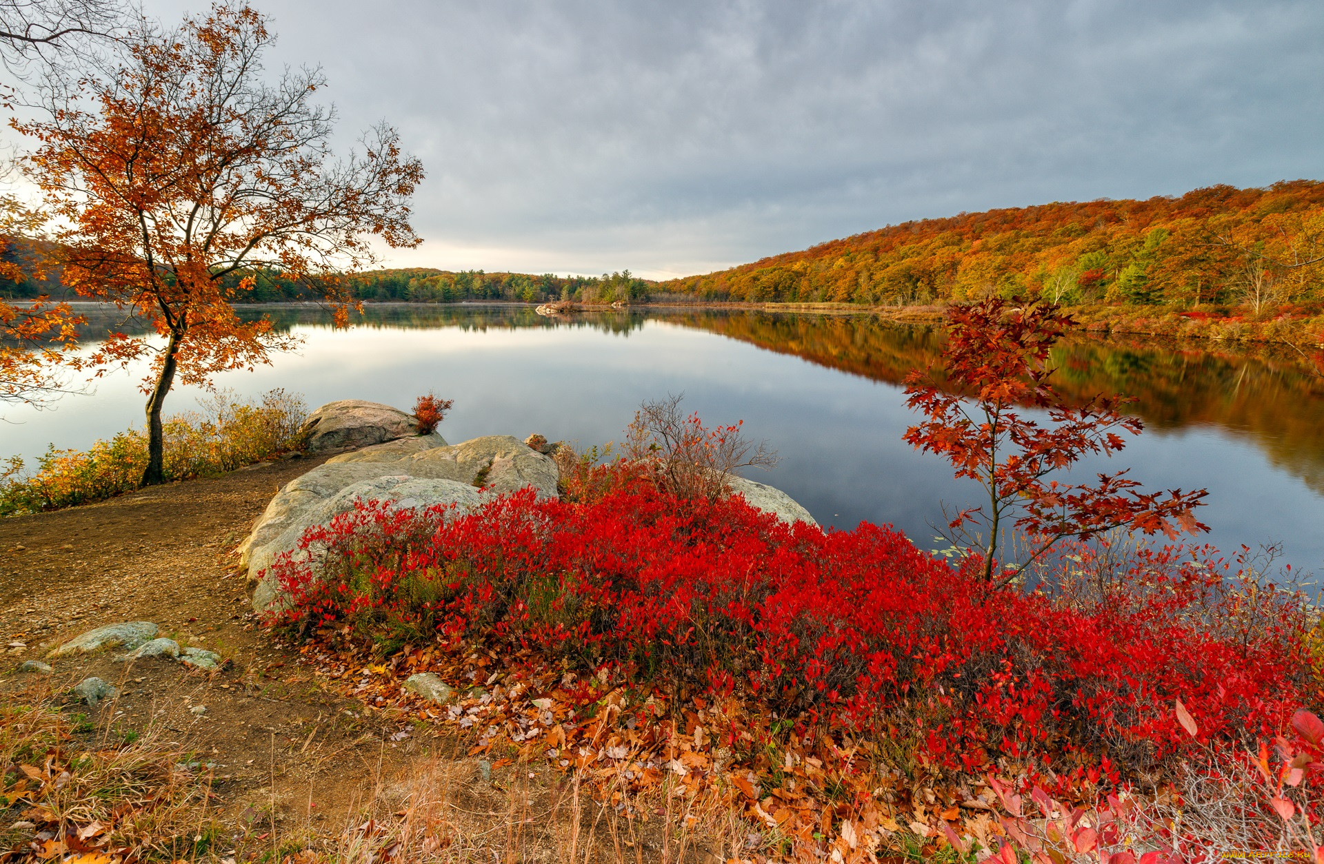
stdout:
[[[0,519],[0,646],[8,646],[0,693],[32,700],[49,685],[49,696],[71,717],[85,713],[97,734],[168,733],[214,762],[216,804],[236,835],[257,834],[256,820],[270,824],[273,808],[286,834],[294,823],[334,834],[365,802],[399,798],[420,766],[429,783],[454,783],[457,807],[504,824],[510,795],[500,779],[518,766],[494,773],[457,756],[454,738],[334,693],[297,652],[273,644],[252,614],[245,577],[228,569],[230,550],[271,495],[320,462],[265,463]],[[15,672],[79,632],[124,621],[155,622],[159,635],[217,651],[226,663],[214,673],[168,660],[130,667],[109,652],[54,660],[49,679]],[[69,688],[89,675],[117,685],[119,699],[93,709],[70,699]],[[530,790],[526,800],[545,794]]]

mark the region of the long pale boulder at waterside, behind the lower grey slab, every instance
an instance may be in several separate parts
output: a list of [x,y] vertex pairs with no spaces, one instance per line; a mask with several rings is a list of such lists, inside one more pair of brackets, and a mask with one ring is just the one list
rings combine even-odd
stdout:
[[240,546],[240,566],[257,574],[261,568],[253,565],[254,550],[290,527],[301,527],[302,533],[303,528],[320,524],[310,523],[307,513],[355,483],[384,476],[455,480],[491,486],[498,492],[532,486],[539,497],[556,497],[556,463],[511,435],[486,435],[449,446],[441,435],[405,438],[334,456],[286,483]]

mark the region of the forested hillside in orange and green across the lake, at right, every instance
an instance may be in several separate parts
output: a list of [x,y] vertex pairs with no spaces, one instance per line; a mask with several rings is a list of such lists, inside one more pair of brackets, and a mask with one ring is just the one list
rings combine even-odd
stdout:
[[658,287],[747,302],[911,304],[1000,294],[1256,312],[1319,304],[1324,183],[963,213]]

